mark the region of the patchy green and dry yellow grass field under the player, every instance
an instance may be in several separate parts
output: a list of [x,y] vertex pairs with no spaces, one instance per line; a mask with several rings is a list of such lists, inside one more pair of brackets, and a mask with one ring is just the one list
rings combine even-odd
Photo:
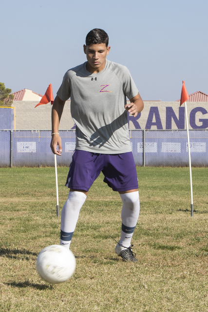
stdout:
[[[59,206],[68,189],[58,168]],[[99,176],[81,209],[71,250],[76,272],[49,285],[39,251],[59,244],[54,168],[0,168],[0,312],[207,312],[208,168],[137,168],[141,212],[132,244],[138,263],[114,253],[121,200]]]

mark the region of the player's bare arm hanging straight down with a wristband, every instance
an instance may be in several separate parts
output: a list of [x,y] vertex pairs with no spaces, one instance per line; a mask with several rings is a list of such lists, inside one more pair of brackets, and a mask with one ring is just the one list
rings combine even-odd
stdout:
[[[62,101],[58,96],[55,98],[52,107],[52,133],[58,133],[59,123],[63,112],[64,104],[65,101]],[[62,152],[61,137],[59,137],[58,134],[52,135],[51,150],[54,154],[61,156]]]

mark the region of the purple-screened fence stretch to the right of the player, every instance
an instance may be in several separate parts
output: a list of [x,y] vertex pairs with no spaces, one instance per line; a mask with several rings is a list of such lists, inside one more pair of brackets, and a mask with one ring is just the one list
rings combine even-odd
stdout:
[[[186,130],[130,130],[130,137],[135,163],[139,166],[189,166]],[[208,131],[189,130],[189,141],[191,165],[207,167]]]

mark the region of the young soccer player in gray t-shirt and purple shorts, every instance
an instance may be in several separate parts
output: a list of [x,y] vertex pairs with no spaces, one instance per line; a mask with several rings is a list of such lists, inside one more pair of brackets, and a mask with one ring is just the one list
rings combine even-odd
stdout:
[[62,152],[58,127],[65,101],[70,97],[71,115],[76,123],[76,150],[66,182],[70,192],[61,212],[60,244],[69,248],[79,211],[102,172],[104,182],[119,192],[123,202],[121,237],[115,253],[125,261],[135,262],[131,239],[140,206],[127,112],[136,117],[144,104],[129,70],[106,59],[109,52],[106,32],[91,30],[84,45],[87,61],[66,72],[53,104],[54,154],[60,156]]

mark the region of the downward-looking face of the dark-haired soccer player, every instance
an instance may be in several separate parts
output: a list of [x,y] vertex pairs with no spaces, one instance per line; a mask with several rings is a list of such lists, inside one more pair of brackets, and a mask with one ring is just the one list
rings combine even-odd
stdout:
[[86,67],[90,73],[99,73],[105,68],[110,48],[110,46],[106,47],[105,43],[84,45],[84,53],[87,56]]

